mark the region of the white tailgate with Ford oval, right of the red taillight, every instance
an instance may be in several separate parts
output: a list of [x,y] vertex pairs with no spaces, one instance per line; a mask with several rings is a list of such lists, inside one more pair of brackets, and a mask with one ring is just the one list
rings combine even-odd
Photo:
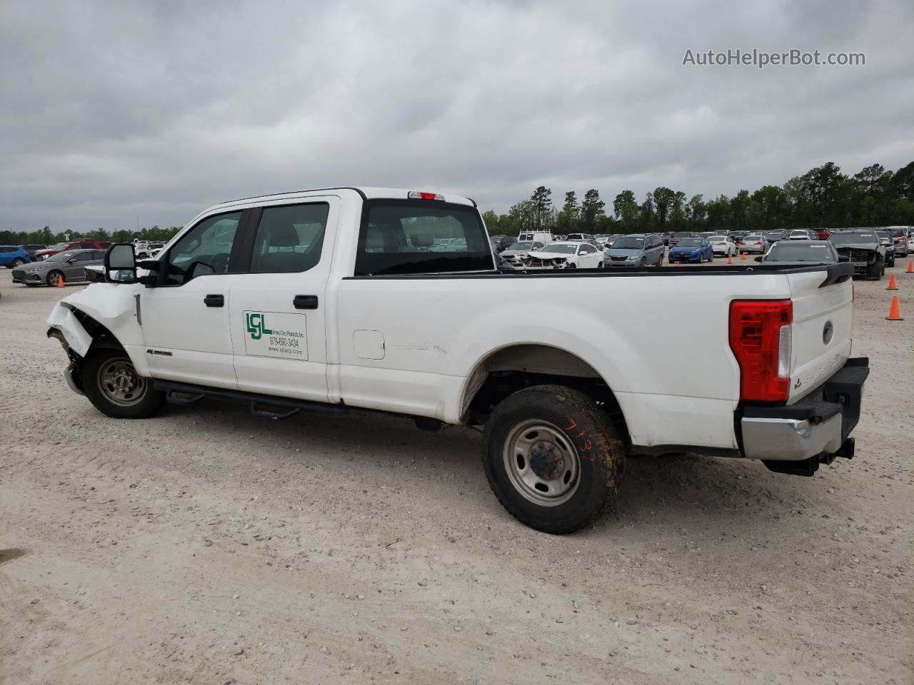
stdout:
[[850,356],[854,286],[846,264],[787,274],[793,301],[791,394],[796,402]]

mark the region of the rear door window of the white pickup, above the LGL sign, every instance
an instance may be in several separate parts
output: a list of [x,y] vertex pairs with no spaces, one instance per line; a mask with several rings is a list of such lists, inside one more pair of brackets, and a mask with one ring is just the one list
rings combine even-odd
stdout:
[[265,207],[250,258],[253,273],[301,273],[321,261],[330,205]]

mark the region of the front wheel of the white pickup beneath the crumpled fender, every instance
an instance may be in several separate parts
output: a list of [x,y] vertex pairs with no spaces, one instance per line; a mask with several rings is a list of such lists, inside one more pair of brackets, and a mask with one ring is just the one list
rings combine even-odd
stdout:
[[82,364],[82,389],[96,409],[112,418],[146,418],[165,404],[151,378],[136,373],[122,350],[102,349]]

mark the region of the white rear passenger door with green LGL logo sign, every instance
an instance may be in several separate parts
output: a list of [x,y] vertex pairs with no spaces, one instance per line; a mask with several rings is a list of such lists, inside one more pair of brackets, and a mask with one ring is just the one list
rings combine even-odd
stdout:
[[231,299],[239,390],[327,401],[324,294],[339,204],[321,196],[253,210]]

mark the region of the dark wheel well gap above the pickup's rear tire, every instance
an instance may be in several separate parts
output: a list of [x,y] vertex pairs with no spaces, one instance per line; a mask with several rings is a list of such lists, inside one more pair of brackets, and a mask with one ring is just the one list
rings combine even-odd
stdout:
[[597,370],[576,354],[543,344],[505,347],[478,364],[464,398],[464,419],[484,424],[505,397],[530,385],[567,385],[590,395],[628,438],[622,408]]

